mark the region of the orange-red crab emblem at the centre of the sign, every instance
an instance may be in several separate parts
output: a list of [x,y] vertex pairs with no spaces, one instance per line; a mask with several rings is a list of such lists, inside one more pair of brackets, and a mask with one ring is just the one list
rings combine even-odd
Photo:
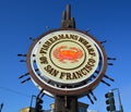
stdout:
[[78,62],[78,59],[81,59],[83,57],[83,52],[75,47],[68,48],[67,46],[61,46],[53,51],[53,57],[60,62],[68,60],[74,63]]

